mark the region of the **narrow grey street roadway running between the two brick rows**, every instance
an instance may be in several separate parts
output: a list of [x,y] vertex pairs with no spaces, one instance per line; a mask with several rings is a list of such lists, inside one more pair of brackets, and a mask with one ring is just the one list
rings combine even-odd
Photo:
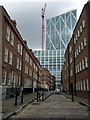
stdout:
[[81,106],[77,102],[72,102],[63,95],[54,94],[39,104],[29,104],[17,115],[12,116],[11,118],[14,120],[25,118],[31,120],[36,118],[39,120],[43,120],[44,118],[62,118],[63,120],[72,118],[72,120],[74,120],[74,118],[78,118],[78,120],[80,120],[83,118],[83,120],[86,120],[86,118],[88,118],[88,111],[86,111],[84,106]]

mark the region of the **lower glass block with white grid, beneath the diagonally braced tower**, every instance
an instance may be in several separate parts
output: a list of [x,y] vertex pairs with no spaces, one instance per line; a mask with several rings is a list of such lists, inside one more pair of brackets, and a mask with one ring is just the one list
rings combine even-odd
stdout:
[[43,68],[50,71],[56,77],[56,86],[60,86],[60,71],[64,63],[63,50],[35,50],[34,55],[38,58]]

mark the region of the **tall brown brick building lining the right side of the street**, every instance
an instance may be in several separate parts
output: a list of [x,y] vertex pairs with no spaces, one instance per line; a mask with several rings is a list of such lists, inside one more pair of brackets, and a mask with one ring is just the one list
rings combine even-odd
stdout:
[[88,98],[90,90],[90,2],[84,5],[65,52],[62,68],[62,90]]

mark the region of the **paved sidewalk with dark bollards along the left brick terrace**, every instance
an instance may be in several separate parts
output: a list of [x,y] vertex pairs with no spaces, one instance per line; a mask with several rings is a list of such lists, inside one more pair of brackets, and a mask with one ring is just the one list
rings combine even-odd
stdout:
[[[50,95],[52,92],[46,92],[44,98]],[[2,101],[2,118],[9,115],[12,112],[19,110],[23,105],[34,100],[37,97],[37,93],[30,93],[23,96],[23,103],[21,104],[21,97],[17,99],[17,106],[15,106],[15,98],[10,98]],[[1,101],[0,101],[1,102]]]

